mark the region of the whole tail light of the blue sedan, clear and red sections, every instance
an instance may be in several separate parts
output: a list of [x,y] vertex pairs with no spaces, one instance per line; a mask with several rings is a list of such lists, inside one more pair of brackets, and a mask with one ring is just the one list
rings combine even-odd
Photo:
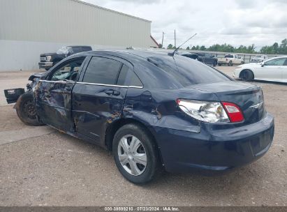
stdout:
[[228,123],[244,121],[240,107],[233,103],[203,102],[177,99],[183,112],[208,123]]

